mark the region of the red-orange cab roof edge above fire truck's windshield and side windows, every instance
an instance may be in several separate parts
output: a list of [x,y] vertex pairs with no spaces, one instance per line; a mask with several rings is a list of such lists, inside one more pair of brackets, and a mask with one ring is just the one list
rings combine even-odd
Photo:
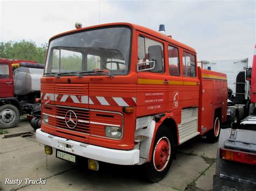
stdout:
[[152,29],[149,29],[147,27],[136,25],[136,24],[131,24],[131,23],[107,23],[107,24],[100,24],[100,25],[83,27],[83,28],[80,28],[80,29],[75,29],[75,30],[71,30],[71,31],[67,31],[67,32],[64,32],[64,33],[57,34],[56,36],[51,37],[50,40],[55,39],[55,38],[60,37],[60,36],[63,36],[63,35],[66,35],[66,34],[69,34],[69,33],[77,32],[77,31],[84,31],[84,30],[88,30],[88,29],[104,27],[104,26],[114,26],[114,25],[130,26],[133,30],[138,30],[138,31],[150,34],[151,36],[157,37],[157,38],[162,39],[164,41],[167,41],[167,42],[169,42],[169,43],[171,43],[173,45],[177,45],[179,47],[187,49],[188,51],[196,53],[196,50],[194,48],[190,47],[190,46],[187,46],[187,45],[185,45],[183,43],[180,43],[177,40],[174,40],[174,39],[172,39],[170,37],[167,37],[164,34],[160,34],[159,32],[154,31]]

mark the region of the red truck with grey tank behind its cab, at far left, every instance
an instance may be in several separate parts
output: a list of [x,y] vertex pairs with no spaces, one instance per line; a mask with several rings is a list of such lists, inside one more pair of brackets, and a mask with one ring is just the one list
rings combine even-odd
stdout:
[[16,126],[20,115],[38,105],[43,68],[35,61],[0,59],[0,129]]

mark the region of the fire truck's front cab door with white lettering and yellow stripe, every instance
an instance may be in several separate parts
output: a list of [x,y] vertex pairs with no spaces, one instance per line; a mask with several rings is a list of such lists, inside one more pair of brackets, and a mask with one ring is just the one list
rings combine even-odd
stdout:
[[[169,107],[169,86],[164,67],[164,42],[137,32],[137,44],[138,63],[141,65],[138,67],[140,72],[138,72],[136,115],[139,117],[166,112]],[[161,66],[157,63],[153,69],[149,70],[153,67],[153,63],[149,61],[152,61],[153,50],[157,46],[161,47],[161,58],[156,58]]]

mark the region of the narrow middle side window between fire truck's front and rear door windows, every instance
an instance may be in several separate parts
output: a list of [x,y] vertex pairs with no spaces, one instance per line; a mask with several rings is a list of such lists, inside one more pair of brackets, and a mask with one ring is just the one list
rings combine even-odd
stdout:
[[172,76],[179,76],[179,52],[178,48],[168,46],[169,72]]

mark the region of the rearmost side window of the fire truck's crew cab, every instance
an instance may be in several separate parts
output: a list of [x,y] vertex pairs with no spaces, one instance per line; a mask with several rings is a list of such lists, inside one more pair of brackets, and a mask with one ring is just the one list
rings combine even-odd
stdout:
[[183,52],[183,75],[196,77],[196,59],[193,54]]

